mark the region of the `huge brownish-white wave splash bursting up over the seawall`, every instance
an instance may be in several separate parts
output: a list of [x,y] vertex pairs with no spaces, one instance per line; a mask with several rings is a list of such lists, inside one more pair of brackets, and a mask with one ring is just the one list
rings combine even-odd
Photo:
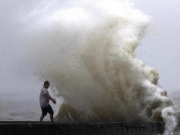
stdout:
[[165,135],[175,128],[177,112],[158,73],[135,57],[148,16],[116,0],[45,9],[32,24],[29,54],[35,74],[64,99],[57,120],[165,121]]

